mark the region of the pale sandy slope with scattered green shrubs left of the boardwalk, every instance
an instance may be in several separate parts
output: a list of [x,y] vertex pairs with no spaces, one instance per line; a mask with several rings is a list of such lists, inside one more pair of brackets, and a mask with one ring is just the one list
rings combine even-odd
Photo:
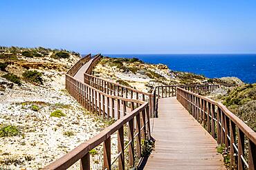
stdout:
[[102,130],[64,89],[80,54],[0,47],[0,166],[41,169]]

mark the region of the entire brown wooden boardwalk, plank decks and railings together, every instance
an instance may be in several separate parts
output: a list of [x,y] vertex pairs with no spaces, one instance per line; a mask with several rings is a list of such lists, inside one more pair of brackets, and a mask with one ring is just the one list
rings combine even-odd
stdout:
[[[149,158],[146,169],[222,169],[221,156],[215,149],[217,142],[233,146],[231,165],[238,162],[238,169],[255,169],[255,132],[232,116],[223,105],[199,96],[212,92],[220,85],[160,86],[154,87],[148,94],[91,76],[100,57],[98,54],[91,58],[89,54],[71,67],[66,73],[66,89],[83,107],[98,116],[115,118],[116,123],[44,169],[67,169],[78,160],[81,169],[90,169],[89,151],[101,143],[104,145],[103,166],[111,169],[111,135],[116,132],[118,157],[113,160],[118,160],[119,169],[127,167],[124,153],[125,149],[129,149],[129,166],[136,166],[135,160],[142,156],[142,141],[151,138],[149,117],[155,117],[156,110],[159,111],[159,118],[154,118],[152,124],[156,150]],[[195,119],[175,98],[167,98],[170,96],[177,96]],[[161,98],[159,107],[158,98]],[[206,127],[209,134],[196,120]],[[126,134],[124,127],[127,127]],[[129,139],[127,145],[124,143],[125,135]],[[245,140],[245,136],[249,140]],[[238,153],[238,158],[232,153]]]

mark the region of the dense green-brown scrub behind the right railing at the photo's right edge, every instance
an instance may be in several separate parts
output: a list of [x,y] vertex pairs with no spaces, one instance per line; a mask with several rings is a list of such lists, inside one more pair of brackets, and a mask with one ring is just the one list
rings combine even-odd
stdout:
[[229,90],[221,99],[232,113],[256,131],[256,83]]

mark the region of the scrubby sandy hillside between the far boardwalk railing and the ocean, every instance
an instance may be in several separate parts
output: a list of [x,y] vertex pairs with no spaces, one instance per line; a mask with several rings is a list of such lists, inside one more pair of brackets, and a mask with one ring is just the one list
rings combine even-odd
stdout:
[[226,79],[222,81],[219,78],[207,78],[190,72],[175,72],[163,64],[154,65],[143,63],[136,58],[109,58],[107,56],[96,65],[93,74],[143,92],[149,92],[156,85],[228,83]]

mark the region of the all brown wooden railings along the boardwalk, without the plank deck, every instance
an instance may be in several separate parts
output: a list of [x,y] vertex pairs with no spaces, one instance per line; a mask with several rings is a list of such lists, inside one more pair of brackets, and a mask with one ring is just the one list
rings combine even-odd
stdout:
[[[111,81],[104,80],[103,78],[90,75],[93,67],[98,62],[100,57],[100,54],[94,56],[93,61],[91,61],[91,64],[84,73],[84,82],[77,80],[73,76],[80,69],[80,67],[82,67],[81,65],[84,65],[84,61],[89,61],[91,59],[91,55],[86,57],[86,59],[81,59],[73,67],[71,67],[71,69],[66,73],[66,89],[68,90],[68,93],[71,94],[71,96],[73,96],[78,103],[80,103],[87,110],[101,115],[104,118],[112,117],[116,118],[117,120],[115,123],[113,123],[113,125],[110,125],[101,131],[100,134],[86,140],[86,142],[83,142],[66,155],[44,167],[44,169],[67,169],[78,160],[81,162],[81,169],[90,169],[89,151],[95,147],[98,147],[98,145],[101,143],[104,144],[103,169],[111,169],[111,135],[115,132],[118,132],[118,158],[115,158],[114,160],[118,159],[119,169],[125,169],[124,150],[126,147],[124,147],[124,127],[126,126],[128,126],[129,136],[129,142],[127,144],[127,146],[129,146],[129,166],[134,167],[135,154],[137,154],[137,158],[141,157],[141,140],[149,140],[151,138],[149,114],[150,116],[154,114],[154,111],[157,108],[158,98],[170,96],[177,96],[179,102],[181,102],[181,104],[192,113],[194,118],[202,122],[204,125],[206,125],[206,120],[206,127],[208,131],[212,133],[214,138],[217,138],[219,143],[225,143],[226,146],[228,146],[228,138],[230,138],[230,142],[233,145],[233,143],[235,143],[235,134],[234,131],[231,133],[230,129],[234,129],[234,126],[237,127],[239,129],[239,141],[241,141],[239,142],[238,149],[236,147],[231,147],[231,153],[235,153],[235,149],[237,149],[237,153],[239,153],[240,156],[238,159],[239,167],[243,167],[244,165],[247,166],[247,162],[243,164],[244,145],[241,144],[244,141],[242,136],[246,135],[250,140],[248,167],[255,167],[255,154],[252,152],[256,149],[255,132],[246,126],[234,114],[228,111],[228,109],[226,109],[226,107],[224,107],[221,103],[217,103],[210,98],[205,98],[194,93],[201,92],[205,87],[209,87],[205,89],[205,92],[211,92],[220,85],[169,85],[154,87],[151,94],[140,92],[131,87],[119,85],[118,83],[113,83]],[[114,88],[106,90],[106,83],[108,84],[107,87],[111,85],[111,87],[113,86]],[[127,96],[124,97],[123,95],[120,96],[119,94],[116,95],[116,92],[119,93],[120,88],[121,91],[125,89],[126,93],[130,91],[131,97],[127,98]],[[194,89],[196,90],[194,91]],[[109,90],[111,90],[110,94]],[[114,93],[112,94],[112,92]],[[136,98],[133,98],[133,94],[136,94]],[[138,94],[143,95],[142,100],[138,98]],[[147,101],[145,100],[145,96],[148,96]],[[201,108],[201,102],[203,102],[203,108]],[[128,103],[130,104],[129,106]],[[115,107],[115,105],[117,107]],[[120,105],[122,105],[122,110],[120,109]],[[217,107],[217,113],[215,111],[215,107]],[[120,115],[121,112],[122,115]],[[134,120],[136,120],[136,125],[134,125]],[[230,129],[228,129],[228,122],[230,122]],[[214,126],[217,126],[217,131],[214,129]],[[134,147],[134,139],[136,139],[136,148]],[[241,154],[241,151],[243,151],[243,154]],[[234,164],[234,161],[232,161],[231,164]]]

